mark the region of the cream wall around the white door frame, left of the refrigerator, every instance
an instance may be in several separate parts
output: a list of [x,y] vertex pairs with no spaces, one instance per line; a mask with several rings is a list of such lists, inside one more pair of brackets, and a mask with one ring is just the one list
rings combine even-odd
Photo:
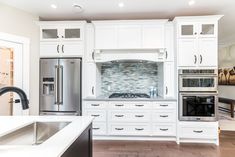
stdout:
[[38,17],[0,3],[0,32],[30,38],[30,114],[39,106],[39,27]]

